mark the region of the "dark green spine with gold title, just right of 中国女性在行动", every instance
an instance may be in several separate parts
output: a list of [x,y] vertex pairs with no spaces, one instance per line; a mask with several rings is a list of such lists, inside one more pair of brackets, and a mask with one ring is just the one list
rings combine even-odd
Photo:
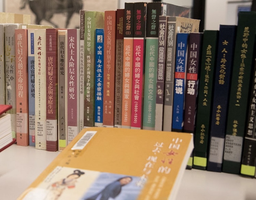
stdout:
[[218,31],[203,32],[193,168],[206,170]]

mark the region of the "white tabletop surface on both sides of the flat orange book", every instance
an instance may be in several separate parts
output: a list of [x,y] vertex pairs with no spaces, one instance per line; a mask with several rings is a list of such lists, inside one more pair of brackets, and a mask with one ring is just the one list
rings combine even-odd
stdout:
[[[60,152],[13,144],[0,152],[0,199],[15,200]],[[256,179],[185,170],[177,200],[255,200]]]

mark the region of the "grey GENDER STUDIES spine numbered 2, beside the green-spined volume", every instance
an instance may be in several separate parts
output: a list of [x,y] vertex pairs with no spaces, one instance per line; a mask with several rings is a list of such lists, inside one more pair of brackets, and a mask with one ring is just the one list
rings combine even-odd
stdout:
[[162,130],[163,124],[163,101],[165,91],[165,67],[166,67],[166,35],[167,17],[159,17],[158,36],[158,60],[157,60],[157,81],[156,81],[156,117],[155,130]]

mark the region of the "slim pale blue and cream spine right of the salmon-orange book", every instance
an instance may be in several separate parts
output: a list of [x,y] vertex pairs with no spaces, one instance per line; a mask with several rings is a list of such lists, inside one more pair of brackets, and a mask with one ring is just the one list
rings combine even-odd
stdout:
[[28,29],[28,112],[29,145],[35,146],[35,55],[34,29]]

